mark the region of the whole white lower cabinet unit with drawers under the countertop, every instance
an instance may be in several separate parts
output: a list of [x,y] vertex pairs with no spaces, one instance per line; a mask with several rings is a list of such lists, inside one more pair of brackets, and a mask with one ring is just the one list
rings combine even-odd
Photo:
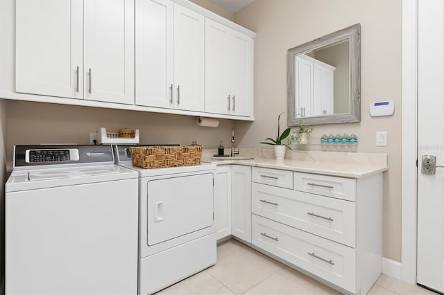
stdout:
[[352,179],[239,165],[217,169],[218,238],[232,234],[345,294],[370,290],[382,265],[381,172]]

